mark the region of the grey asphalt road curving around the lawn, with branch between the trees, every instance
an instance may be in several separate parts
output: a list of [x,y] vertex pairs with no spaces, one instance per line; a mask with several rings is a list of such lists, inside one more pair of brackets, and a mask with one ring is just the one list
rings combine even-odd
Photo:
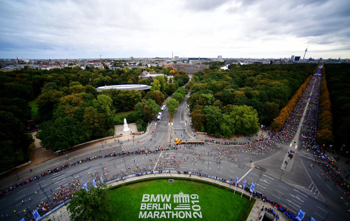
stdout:
[[[186,96],[186,98],[188,95]],[[186,108],[186,98],[180,103],[177,112],[173,117],[173,123],[169,123],[169,112],[166,109],[163,113],[160,122],[152,122],[150,130],[145,136],[139,137],[130,141],[123,141],[123,144],[110,142],[92,146],[86,149],[72,152],[68,156],[59,156],[45,163],[36,165],[32,168],[34,173],[47,170],[67,162],[75,162],[78,159],[104,155],[113,151],[132,151],[141,148],[149,148],[154,150],[156,147],[173,145],[174,138],[199,139],[201,137],[194,136],[187,116],[189,109]],[[153,132],[151,132],[153,131]],[[296,134],[298,135],[298,134]],[[299,136],[298,136],[299,137]],[[139,141],[139,142],[138,142]],[[255,191],[261,192],[272,200],[279,202],[281,205],[289,208],[295,214],[302,209],[306,212],[306,216],[313,216],[316,220],[349,220],[349,214],[345,212],[346,208],[337,200],[342,195],[344,190],[335,187],[332,182],[324,181],[321,177],[322,169],[317,165],[311,169],[308,157],[304,156],[303,150],[297,151],[295,154],[293,166],[290,172],[281,170],[284,157],[288,150],[289,144],[279,144],[277,149],[270,153],[253,157],[251,154],[239,154],[238,162],[230,161],[227,157],[222,160],[216,159],[219,148],[233,148],[232,145],[181,145],[179,150],[163,151],[156,154],[132,155],[121,157],[100,158],[92,161],[87,161],[75,166],[65,168],[63,171],[51,175],[47,175],[29,184],[16,188],[11,193],[0,198],[1,214],[12,215],[12,220],[18,220],[18,217],[13,213],[17,210],[23,216],[23,210],[30,211],[35,208],[35,205],[40,201],[52,201],[52,193],[50,189],[57,190],[59,185],[68,185],[72,179],[79,177],[81,182],[89,179],[89,172],[105,171],[108,168],[110,176],[112,174],[120,174],[121,170],[133,173],[135,165],[140,167],[146,166],[149,159],[158,159],[160,156],[164,160],[171,156],[175,158],[186,157],[187,154],[196,158],[197,154],[202,153],[202,159],[196,159],[196,162],[187,160],[182,161],[179,167],[173,165],[165,165],[169,170],[193,171],[201,172],[208,175],[226,178],[230,180],[238,177],[238,183],[243,184],[244,179],[250,185],[251,182],[256,183]],[[193,152],[193,154],[191,154]],[[209,154],[208,154],[209,152]],[[253,159],[254,168],[250,167],[250,159]],[[220,162],[219,162],[220,161]],[[131,169],[128,169],[128,165]],[[162,166],[162,165],[161,165]],[[160,165],[152,166],[152,170],[158,171]],[[23,171],[18,173],[19,178],[25,178],[32,173]],[[2,186],[14,183],[18,180],[16,174],[6,180],[2,180]],[[37,192],[35,194],[34,192]],[[29,201],[31,198],[32,201]],[[25,201],[22,203],[21,200]]]

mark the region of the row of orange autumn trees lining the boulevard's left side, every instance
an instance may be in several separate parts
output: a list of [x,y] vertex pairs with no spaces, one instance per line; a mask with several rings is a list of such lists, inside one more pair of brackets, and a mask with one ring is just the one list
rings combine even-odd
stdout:
[[296,103],[299,101],[299,99],[303,95],[303,92],[306,89],[309,81],[311,80],[311,77],[312,75],[306,78],[305,82],[295,92],[293,97],[288,101],[287,105],[284,108],[282,108],[278,117],[273,119],[272,126],[276,129],[277,132],[282,129],[283,125],[288,120],[289,115],[292,113]]

